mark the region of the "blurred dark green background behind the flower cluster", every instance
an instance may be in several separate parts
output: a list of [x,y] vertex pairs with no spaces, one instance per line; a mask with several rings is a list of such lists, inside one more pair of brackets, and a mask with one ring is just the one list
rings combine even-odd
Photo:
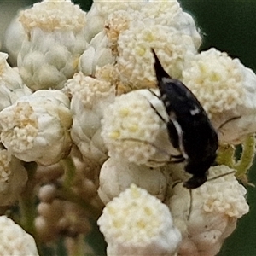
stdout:
[[[0,0],[0,39],[17,9],[38,1]],[[73,1],[90,9],[90,0]],[[204,35],[201,49],[215,47],[238,57],[256,71],[256,0],[179,0],[184,10],[194,16]],[[249,173],[256,184],[256,166]],[[256,188],[249,187],[250,212],[241,218],[236,231],[225,242],[218,256],[256,255]],[[96,238],[96,236],[94,236]],[[90,239],[94,240],[93,237]],[[97,244],[97,242],[96,242]]]

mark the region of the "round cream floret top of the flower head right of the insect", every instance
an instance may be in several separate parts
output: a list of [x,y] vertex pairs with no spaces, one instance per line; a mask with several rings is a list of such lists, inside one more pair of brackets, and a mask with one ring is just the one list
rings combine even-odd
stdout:
[[241,105],[245,96],[243,79],[241,62],[216,49],[196,55],[183,71],[183,83],[210,115]]

